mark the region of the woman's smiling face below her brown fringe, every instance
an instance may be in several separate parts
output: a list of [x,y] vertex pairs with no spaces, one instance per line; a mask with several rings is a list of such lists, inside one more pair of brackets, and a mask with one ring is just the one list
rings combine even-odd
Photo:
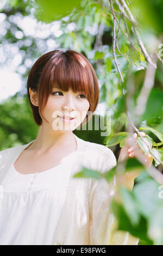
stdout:
[[[82,123],[89,107],[84,92],[74,93],[71,89],[64,92],[58,85],[54,85],[42,114],[53,130],[73,131]],[[74,119],[64,120],[64,117]]]

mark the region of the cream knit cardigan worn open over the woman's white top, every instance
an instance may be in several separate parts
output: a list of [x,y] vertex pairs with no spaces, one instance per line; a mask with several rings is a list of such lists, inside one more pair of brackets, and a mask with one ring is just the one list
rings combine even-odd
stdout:
[[[79,155],[72,174],[83,166],[102,173],[116,166],[109,148],[75,137]],[[0,184],[11,164],[32,142],[0,151]],[[108,183],[105,179],[70,178],[52,245],[137,245],[137,237],[116,230],[117,221],[109,208],[114,192],[115,179]]]

